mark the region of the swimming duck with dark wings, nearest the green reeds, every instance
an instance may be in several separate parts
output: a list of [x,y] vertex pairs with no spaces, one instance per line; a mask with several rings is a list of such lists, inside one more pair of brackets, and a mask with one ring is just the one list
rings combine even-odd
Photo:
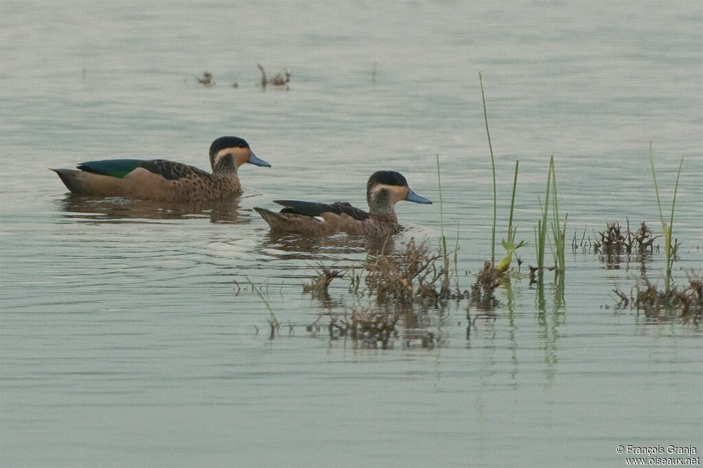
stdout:
[[[274,200],[283,205],[280,213],[254,208],[273,230],[298,234],[328,236],[337,232],[366,236],[389,236],[399,231],[394,205],[407,200],[415,203],[432,201],[415,194],[408,182],[395,171],[373,173],[366,184],[368,213],[342,201],[315,203],[312,201]],[[319,219],[319,218],[322,219]]]

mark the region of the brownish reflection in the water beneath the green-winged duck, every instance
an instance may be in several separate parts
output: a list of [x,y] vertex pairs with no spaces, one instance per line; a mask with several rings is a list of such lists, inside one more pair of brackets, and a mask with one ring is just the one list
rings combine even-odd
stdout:
[[60,208],[69,218],[91,221],[124,219],[181,220],[184,218],[209,218],[212,222],[248,222],[239,216],[239,199],[214,200],[200,203],[175,203],[167,201],[131,200],[122,197],[98,197],[67,194],[60,201]]

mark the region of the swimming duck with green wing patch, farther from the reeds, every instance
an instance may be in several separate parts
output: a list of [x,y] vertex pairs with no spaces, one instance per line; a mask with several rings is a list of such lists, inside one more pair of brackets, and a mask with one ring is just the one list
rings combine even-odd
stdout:
[[254,156],[238,137],[220,137],[210,145],[212,174],[166,159],[105,159],[75,169],[51,169],[77,194],[124,196],[160,201],[206,201],[242,193],[237,168],[244,163],[271,167]]

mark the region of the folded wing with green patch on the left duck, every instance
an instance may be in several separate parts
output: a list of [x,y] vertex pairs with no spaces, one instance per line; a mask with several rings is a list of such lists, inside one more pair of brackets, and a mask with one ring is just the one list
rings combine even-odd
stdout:
[[207,175],[205,171],[188,164],[176,163],[167,159],[103,159],[102,161],[87,161],[77,166],[81,171],[93,174],[111,175],[116,178],[124,178],[136,168],[143,168],[150,173],[162,176],[166,180],[177,180],[187,175]]

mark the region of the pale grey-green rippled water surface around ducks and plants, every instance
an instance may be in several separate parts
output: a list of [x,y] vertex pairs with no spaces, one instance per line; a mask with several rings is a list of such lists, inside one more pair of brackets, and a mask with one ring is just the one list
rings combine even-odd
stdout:
[[[365,205],[401,171],[389,248],[440,233],[469,288],[498,239],[520,160],[518,236],[532,244],[550,154],[569,239],[606,220],[658,229],[684,157],[674,279],[701,268],[703,6],[678,2],[9,1],[0,5],[0,462],[13,466],[622,466],[619,445],[703,450],[694,321],[616,309],[661,253],[610,264],[567,249],[563,304],[513,279],[467,334],[465,301],[420,340],[368,349],[306,326],[366,305],[318,262],[373,246],[271,236],[278,198]],[[292,72],[290,90],[257,86]],[[195,81],[211,72],[217,86]],[[233,83],[238,83],[233,88]],[[169,158],[207,168],[220,135],[272,168],[245,195],[163,206],[66,194],[49,167]],[[498,245],[498,252],[501,247]],[[534,247],[520,250],[534,264]],[[280,334],[269,340],[269,311]],[[238,286],[239,285],[239,286]],[[473,314],[477,311],[472,310]],[[324,319],[323,321],[324,322]],[[409,330],[408,332],[409,333]]]

